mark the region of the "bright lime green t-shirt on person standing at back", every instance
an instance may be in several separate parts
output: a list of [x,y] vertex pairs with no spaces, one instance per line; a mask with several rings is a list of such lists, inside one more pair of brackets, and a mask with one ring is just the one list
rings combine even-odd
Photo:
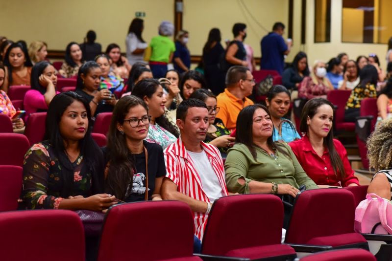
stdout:
[[151,62],[169,63],[170,54],[175,51],[174,42],[163,35],[155,36],[151,39]]

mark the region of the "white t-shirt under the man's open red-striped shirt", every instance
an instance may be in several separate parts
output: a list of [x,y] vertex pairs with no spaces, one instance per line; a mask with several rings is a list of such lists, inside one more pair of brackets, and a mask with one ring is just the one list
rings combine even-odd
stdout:
[[201,186],[203,187],[205,194],[208,196],[208,199],[210,199],[210,202],[213,203],[216,199],[224,196],[221,183],[219,183],[218,176],[212,168],[205,151],[203,150],[199,153],[190,151],[187,152],[195,164],[196,171],[201,179]]

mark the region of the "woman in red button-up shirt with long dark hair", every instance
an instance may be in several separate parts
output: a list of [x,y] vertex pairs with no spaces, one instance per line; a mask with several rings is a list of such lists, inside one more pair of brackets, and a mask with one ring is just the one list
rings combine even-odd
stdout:
[[319,187],[358,186],[346,150],[333,138],[333,115],[329,101],[323,98],[308,101],[300,124],[300,131],[305,135],[289,145],[304,171]]

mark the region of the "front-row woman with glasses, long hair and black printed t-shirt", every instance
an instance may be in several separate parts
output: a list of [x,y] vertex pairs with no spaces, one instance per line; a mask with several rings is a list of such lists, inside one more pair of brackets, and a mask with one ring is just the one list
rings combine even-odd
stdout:
[[162,200],[165,161],[162,147],[144,140],[149,122],[146,103],[134,95],[121,98],[113,110],[104,150],[105,192],[125,202]]

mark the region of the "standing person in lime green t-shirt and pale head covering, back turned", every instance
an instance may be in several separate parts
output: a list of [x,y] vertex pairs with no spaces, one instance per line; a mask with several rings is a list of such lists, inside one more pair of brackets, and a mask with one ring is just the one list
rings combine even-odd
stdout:
[[172,62],[175,45],[169,38],[174,33],[174,25],[163,21],[158,27],[159,35],[151,39],[151,56],[149,65],[154,78],[162,78],[168,70],[168,64]]

